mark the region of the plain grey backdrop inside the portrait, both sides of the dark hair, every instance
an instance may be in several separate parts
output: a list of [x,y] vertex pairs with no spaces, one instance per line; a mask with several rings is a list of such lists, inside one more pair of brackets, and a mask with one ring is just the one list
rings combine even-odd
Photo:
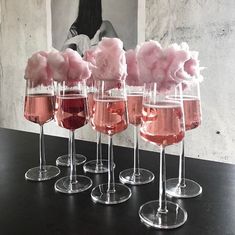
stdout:
[[[61,49],[71,24],[78,14],[79,0],[52,0],[52,39],[53,46]],[[137,43],[138,1],[102,0],[103,20],[109,20],[125,48],[134,48]],[[115,10],[114,10],[115,9]],[[121,17],[120,17],[121,16]]]

